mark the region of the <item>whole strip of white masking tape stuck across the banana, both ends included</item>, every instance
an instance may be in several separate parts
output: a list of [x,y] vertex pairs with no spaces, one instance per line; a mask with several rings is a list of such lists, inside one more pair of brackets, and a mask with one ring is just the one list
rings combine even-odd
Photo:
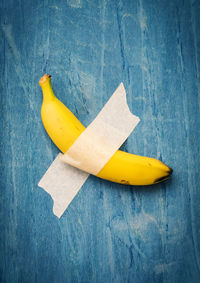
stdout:
[[96,175],[105,166],[139,121],[128,108],[121,83],[93,122],[64,155],[57,156],[38,184],[51,195],[56,216],[62,216],[88,173]]

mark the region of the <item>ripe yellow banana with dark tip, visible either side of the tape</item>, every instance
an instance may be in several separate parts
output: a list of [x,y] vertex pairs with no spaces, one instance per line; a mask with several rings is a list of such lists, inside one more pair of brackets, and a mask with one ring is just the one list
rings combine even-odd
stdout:
[[[74,114],[56,98],[51,87],[51,76],[45,74],[39,81],[43,92],[41,118],[55,143],[65,153],[85,127]],[[118,150],[97,177],[128,185],[152,185],[170,177],[172,169],[160,160]]]

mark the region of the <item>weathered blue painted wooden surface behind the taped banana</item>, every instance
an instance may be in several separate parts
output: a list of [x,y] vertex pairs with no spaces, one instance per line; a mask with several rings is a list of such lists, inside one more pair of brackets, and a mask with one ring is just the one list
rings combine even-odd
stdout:
[[[200,1],[2,0],[1,282],[200,282]],[[123,81],[141,118],[123,149],[171,180],[90,176],[59,220],[37,182],[58,153],[38,80],[88,125]]]

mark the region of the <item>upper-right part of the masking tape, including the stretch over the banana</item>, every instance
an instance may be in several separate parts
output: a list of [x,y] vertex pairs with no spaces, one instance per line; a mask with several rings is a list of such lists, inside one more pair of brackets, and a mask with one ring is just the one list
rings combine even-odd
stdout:
[[126,91],[121,83],[62,160],[90,174],[98,174],[139,121],[128,108]]

